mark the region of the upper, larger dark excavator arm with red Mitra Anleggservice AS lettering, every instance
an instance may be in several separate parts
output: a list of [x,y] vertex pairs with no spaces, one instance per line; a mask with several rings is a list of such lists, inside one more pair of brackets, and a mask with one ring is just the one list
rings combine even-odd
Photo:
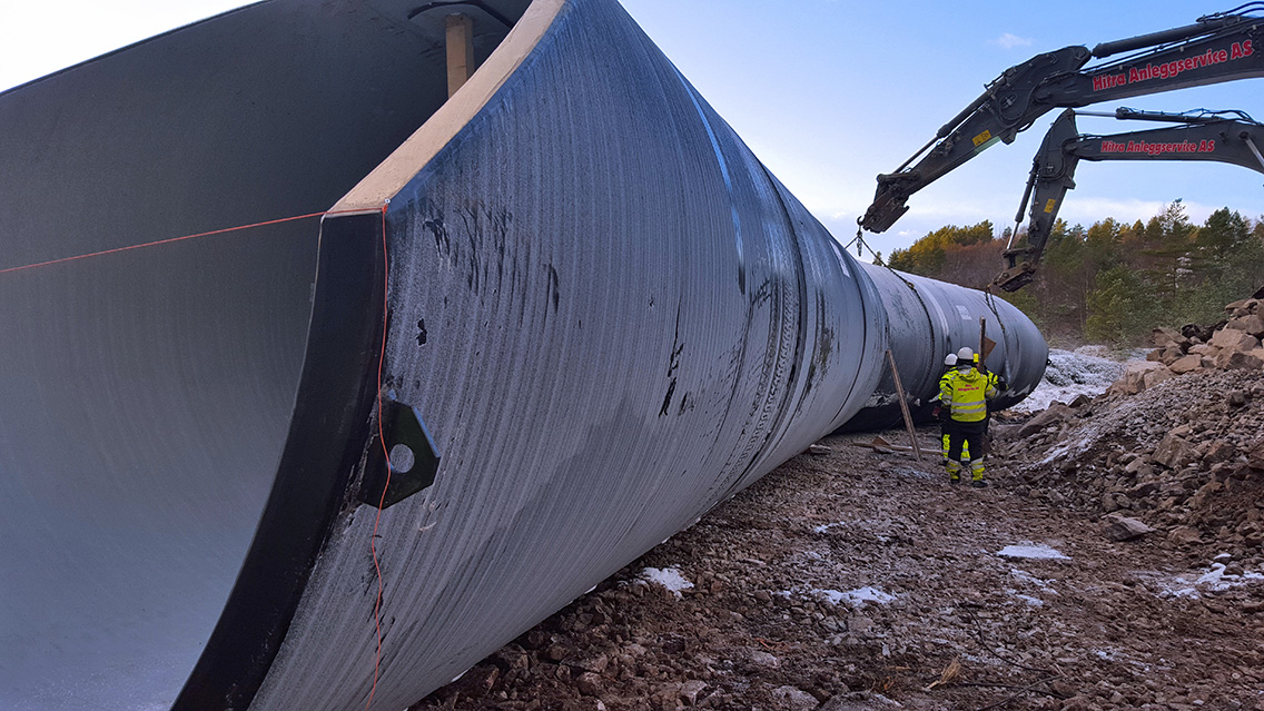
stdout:
[[886,232],[909,210],[906,202],[914,192],[997,142],[1012,143],[1054,109],[1264,76],[1261,15],[1264,1],[1248,3],[1203,15],[1191,25],[1102,43],[1091,51],[1064,47],[1005,70],[895,172],[877,176],[873,202],[857,223],[862,230]]

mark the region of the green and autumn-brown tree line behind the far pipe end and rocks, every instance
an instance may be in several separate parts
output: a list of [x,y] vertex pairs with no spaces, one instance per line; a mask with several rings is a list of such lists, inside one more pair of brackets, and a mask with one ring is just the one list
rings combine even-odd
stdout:
[[[999,295],[1053,343],[1138,345],[1157,326],[1216,323],[1225,304],[1264,286],[1261,220],[1224,207],[1196,225],[1179,200],[1145,223],[1107,218],[1086,229],[1059,219],[1035,281]],[[943,226],[894,250],[886,263],[983,288],[1004,268],[1010,242],[1010,229],[994,233],[987,220]],[[1016,242],[1024,239],[1025,232]]]

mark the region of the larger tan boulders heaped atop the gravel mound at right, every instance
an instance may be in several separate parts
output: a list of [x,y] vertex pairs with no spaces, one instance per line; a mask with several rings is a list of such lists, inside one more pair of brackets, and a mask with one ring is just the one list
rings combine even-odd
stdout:
[[1259,299],[1225,306],[1226,319],[1212,326],[1189,324],[1179,331],[1154,329],[1157,347],[1144,363],[1129,366],[1114,391],[1135,395],[1173,376],[1200,369],[1264,369],[1264,309]]

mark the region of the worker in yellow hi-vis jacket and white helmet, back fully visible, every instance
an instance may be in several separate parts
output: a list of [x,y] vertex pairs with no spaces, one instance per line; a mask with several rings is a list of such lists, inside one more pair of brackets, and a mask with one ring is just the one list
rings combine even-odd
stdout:
[[[968,468],[971,486],[985,487],[983,431],[987,419],[987,401],[1000,392],[996,381],[975,367],[975,352],[962,348],[957,352],[957,367],[939,380],[939,402],[948,407],[952,420],[948,431],[948,481],[961,481],[962,468]],[[971,459],[963,449],[975,453]]]

